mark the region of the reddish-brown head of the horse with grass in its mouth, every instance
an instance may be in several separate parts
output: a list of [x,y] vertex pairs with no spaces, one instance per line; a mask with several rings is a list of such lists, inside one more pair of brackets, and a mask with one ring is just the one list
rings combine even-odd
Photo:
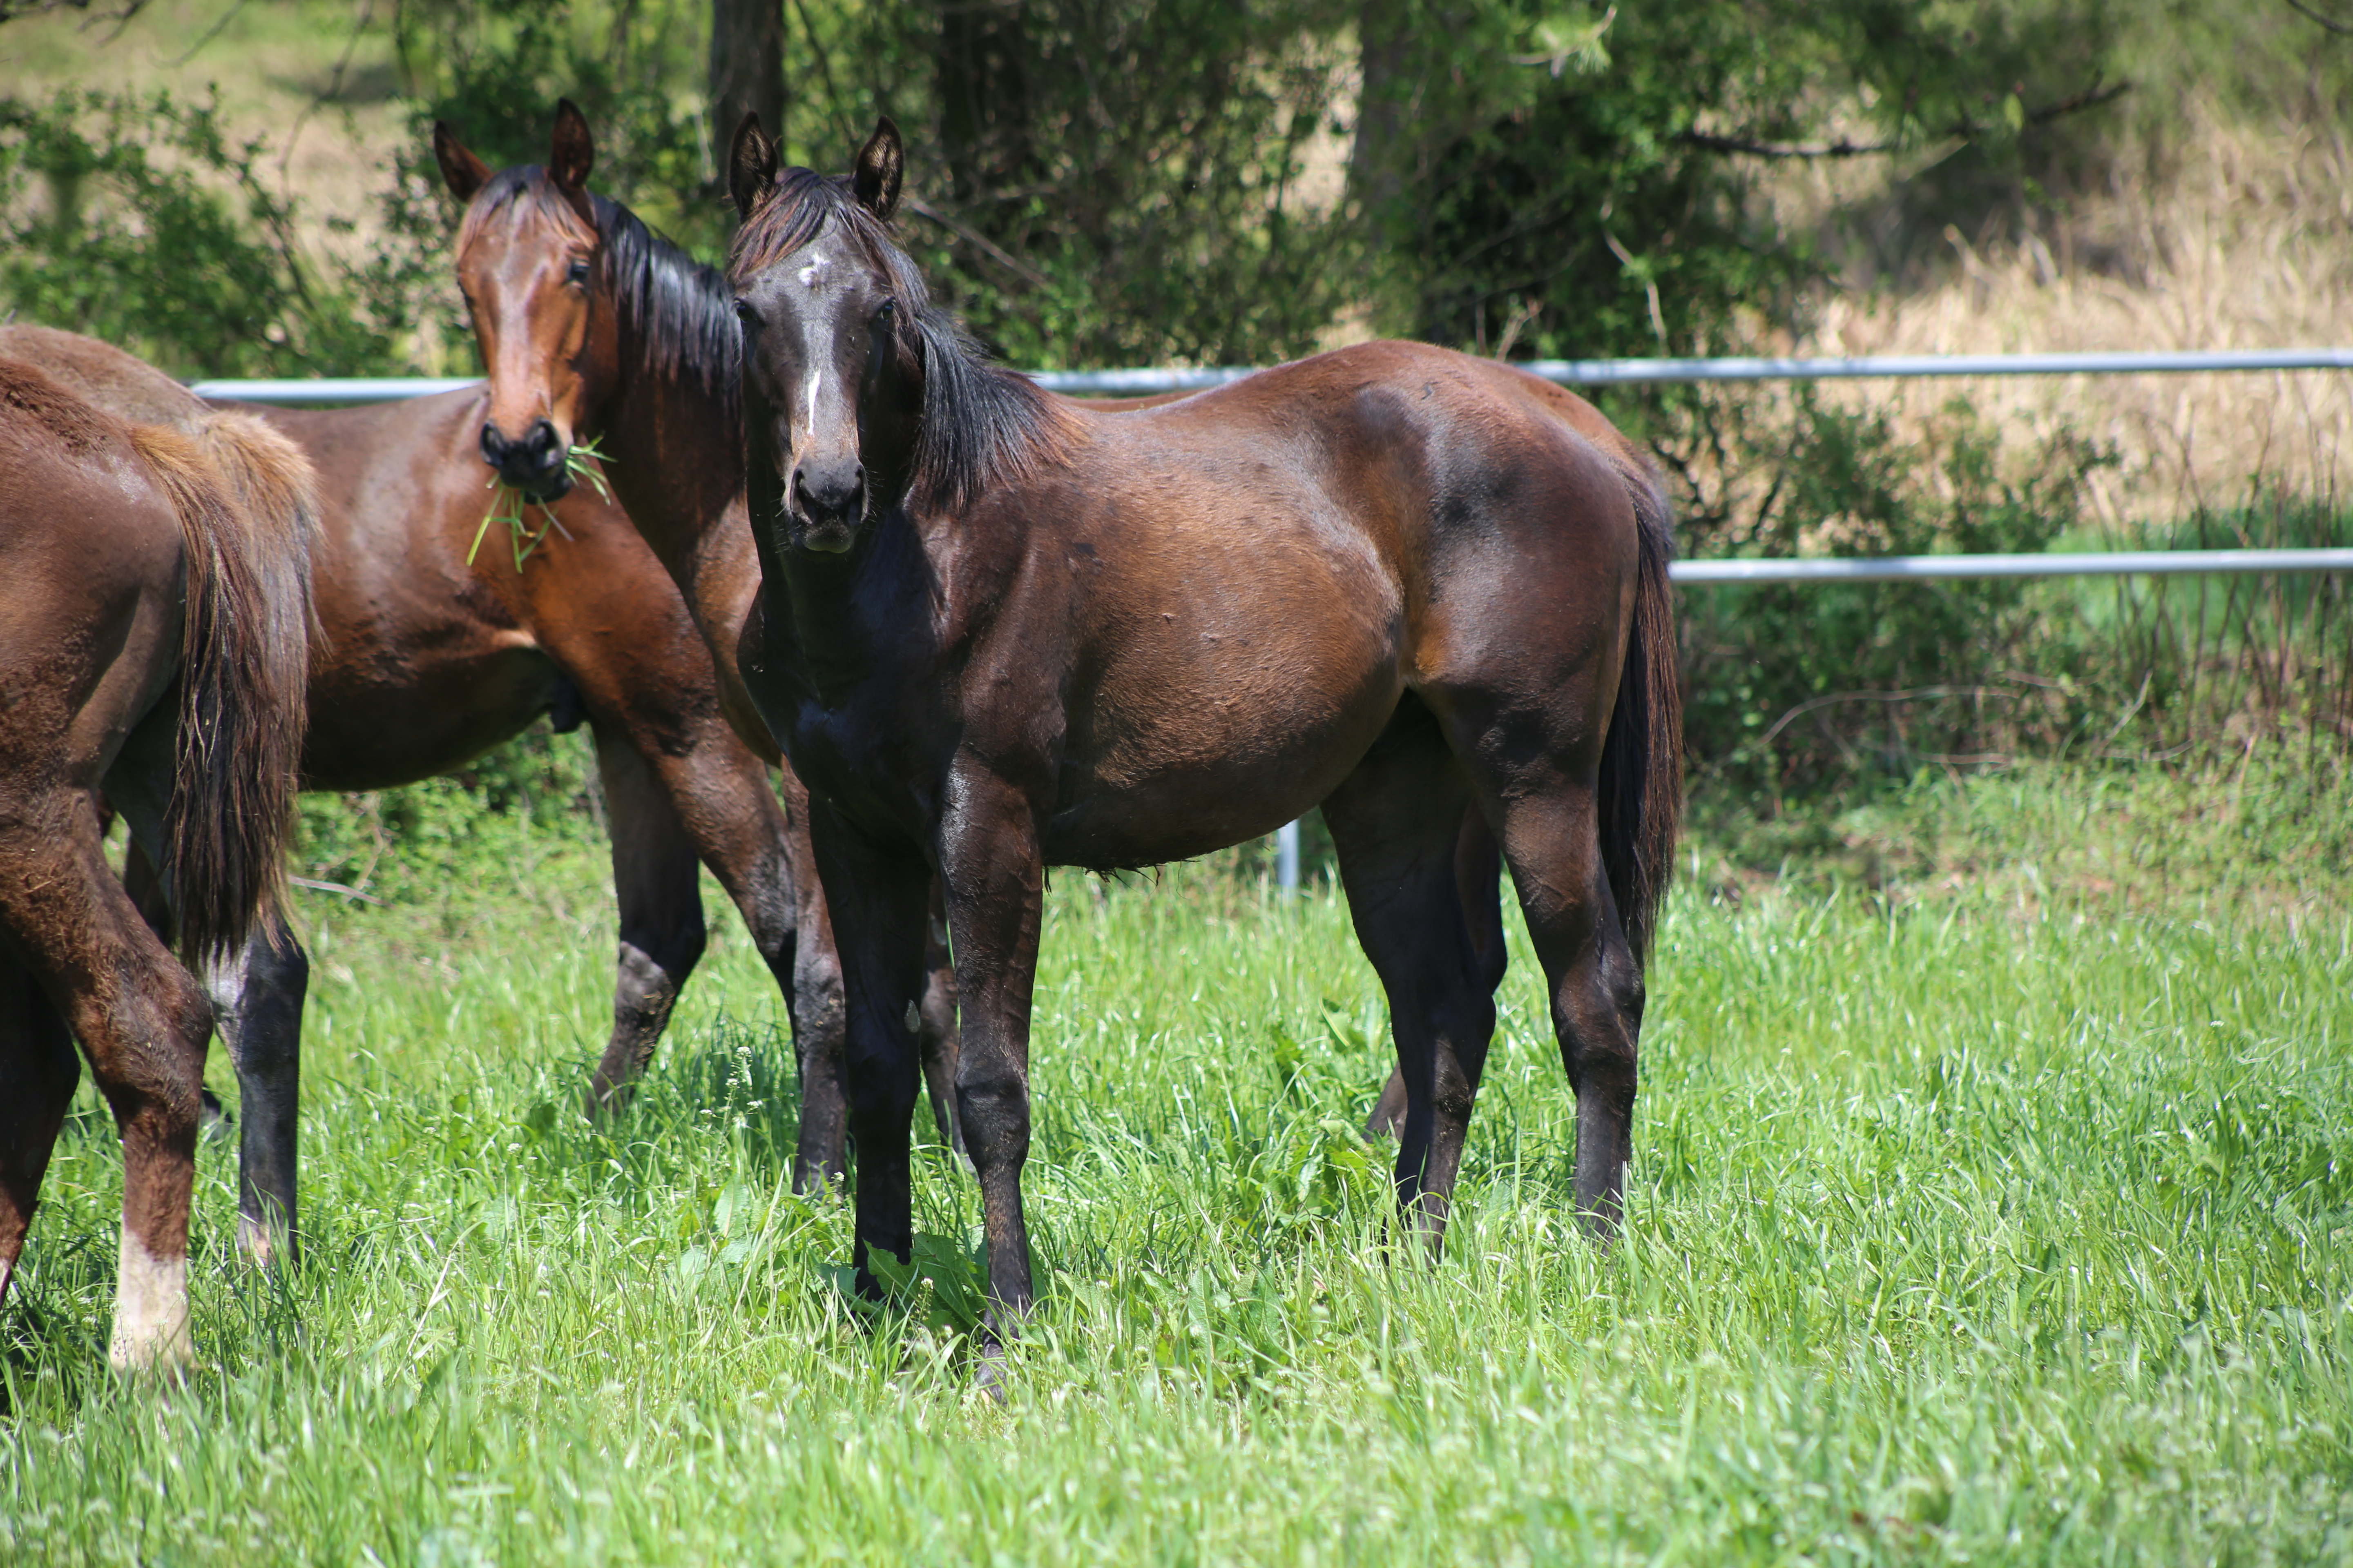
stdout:
[[567,456],[584,411],[619,386],[619,341],[602,277],[602,230],[588,172],[595,141],[565,99],[548,162],[501,169],[433,125],[433,158],[466,202],[456,282],[489,369],[482,461],[506,484],[553,501],[572,489]]

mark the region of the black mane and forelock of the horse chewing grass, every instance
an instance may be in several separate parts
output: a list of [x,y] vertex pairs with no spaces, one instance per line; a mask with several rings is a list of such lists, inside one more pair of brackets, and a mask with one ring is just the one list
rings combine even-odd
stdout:
[[[466,205],[459,249],[492,216],[529,202],[534,212],[558,223],[579,223],[579,212],[555,188],[539,165],[499,169]],[[734,320],[734,294],[718,268],[704,266],[671,240],[645,226],[621,202],[588,195],[598,228],[598,268],[619,306],[624,355],[635,355],[645,376],[671,381],[685,376],[720,404],[725,428],[736,425],[741,400],[741,327]]]

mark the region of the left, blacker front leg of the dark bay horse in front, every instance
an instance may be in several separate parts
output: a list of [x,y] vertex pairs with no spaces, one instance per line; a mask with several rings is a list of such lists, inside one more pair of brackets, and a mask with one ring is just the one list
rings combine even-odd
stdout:
[[868,1267],[880,1248],[915,1260],[915,1194],[908,1173],[908,1119],[920,1081],[915,1027],[925,985],[932,867],[922,856],[878,844],[826,802],[809,802],[809,844],[833,912],[842,959],[849,1135],[856,1143],[856,1288],[882,1300]]

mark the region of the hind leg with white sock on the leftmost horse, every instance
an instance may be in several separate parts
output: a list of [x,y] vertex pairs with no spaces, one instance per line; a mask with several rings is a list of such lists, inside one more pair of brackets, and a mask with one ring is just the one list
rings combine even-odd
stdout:
[[212,1004],[148,931],[99,844],[87,795],[0,844],[0,938],[42,978],[122,1133],[115,1368],[188,1361],[188,1208]]

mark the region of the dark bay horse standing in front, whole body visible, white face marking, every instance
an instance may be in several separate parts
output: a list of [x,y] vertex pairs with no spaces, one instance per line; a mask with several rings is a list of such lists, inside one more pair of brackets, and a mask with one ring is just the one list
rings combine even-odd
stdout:
[[1673,867],[1668,508],[1584,400],[1365,343],[1115,416],[988,364],[887,228],[904,150],[729,190],[760,595],[748,696],[809,785],[849,1004],[856,1284],[911,1253],[908,1004],[946,884],[988,1241],[986,1378],[1031,1307],[1021,1166],[1049,865],[1179,860],[1322,804],[1405,1081],[1402,1222],[1438,1251],[1504,976],[1499,858],[1621,1215],[1642,954]]

